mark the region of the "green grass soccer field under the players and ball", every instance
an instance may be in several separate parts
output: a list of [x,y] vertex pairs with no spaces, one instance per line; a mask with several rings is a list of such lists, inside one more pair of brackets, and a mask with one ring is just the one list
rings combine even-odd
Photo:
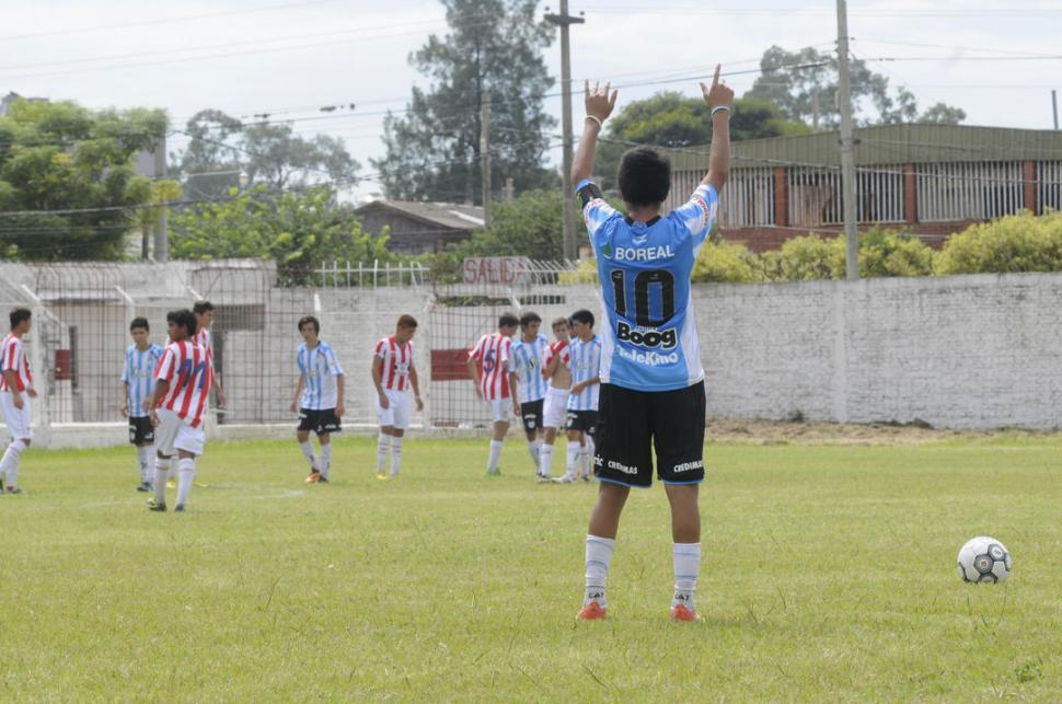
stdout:
[[[1060,696],[1062,439],[709,446],[699,624],[668,619],[659,486],[578,623],[596,488],[534,484],[511,439],[486,478],[485,445],[411,437],[379,482],[343,438],[307,486],[293,441],[216,443],[184,515],[146,510],[130,449],[31,451],[0,496],[0,700]],[[982,533],[1004,586],[958,579]]]

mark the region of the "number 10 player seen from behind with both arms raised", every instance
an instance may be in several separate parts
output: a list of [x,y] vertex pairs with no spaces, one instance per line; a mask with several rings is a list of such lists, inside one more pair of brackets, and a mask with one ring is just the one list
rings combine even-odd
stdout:
[[601,487],[590,515],[586,597],[579,618],[605,615],[605,578],[620,513],[631,487],[657,476],[671,504],[674,592],[671,618],[697,619],[693,600],[701,569],[697,485],[704,478],[704,369],[690,295],[697,252],[712,229],[730,160],[734,91],[701,84],[712,119],[708,170],[685,205],[661,217],[671,188],[667,157],[635,147],[620,160],[626,212],[612,209],[590,180],[598,135],[615,106],[616,91],[586,85],[586,122],[572,164],[587,234],[601,281],[601,405],[595,469]]

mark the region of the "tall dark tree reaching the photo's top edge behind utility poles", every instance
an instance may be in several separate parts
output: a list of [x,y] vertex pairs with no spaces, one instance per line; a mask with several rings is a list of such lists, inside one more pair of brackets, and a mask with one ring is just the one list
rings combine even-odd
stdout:
[[405,116],[384,119],[386,154],[373,160],[390,198],[482,203],[481,104],[490,101],[490,189],[511,177],[518,192],[550,187],[542,165],[542,109],[553,79],[542,59],[553,28],[534,20],[538,0],[441,0],[449,34],[431,35],[411,64],[431,79],[413,89]]

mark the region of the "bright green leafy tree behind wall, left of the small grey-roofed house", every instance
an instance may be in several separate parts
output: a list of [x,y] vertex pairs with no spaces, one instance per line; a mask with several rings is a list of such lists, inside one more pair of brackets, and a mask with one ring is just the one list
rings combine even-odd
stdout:
[[353,208],[335,191],[312,186],[304,193],[270,193],[256,186],[231,198],[184,210],[170,220],[176,258],[252,257],[275,259],[289,280],[302,280],[325,261],[394,262],[386,235],[361,230]]

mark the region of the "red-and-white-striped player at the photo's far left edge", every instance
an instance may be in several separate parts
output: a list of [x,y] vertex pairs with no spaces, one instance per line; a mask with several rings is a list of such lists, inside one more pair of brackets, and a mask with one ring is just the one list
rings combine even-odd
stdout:
[[[33,388],[33,371],[22,338],[30,332],[33,313],[26,308],[16,308],[8,316],[11,332],[0,344],[0,411],[8,426],[11,442],[0,460],[0,494],[21,494],[19,488],[19,461],[33,440],[31,427],[30,399],[36,399]],[[7,489],[4,489],[7,483]]]

